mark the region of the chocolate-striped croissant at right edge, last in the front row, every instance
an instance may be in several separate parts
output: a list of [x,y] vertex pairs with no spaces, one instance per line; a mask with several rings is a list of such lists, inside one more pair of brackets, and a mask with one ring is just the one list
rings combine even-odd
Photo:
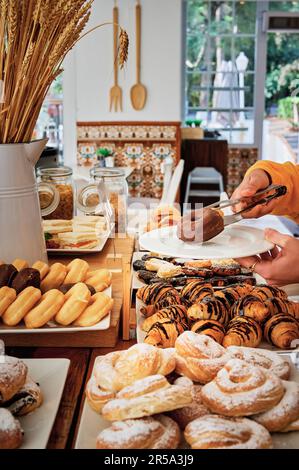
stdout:
[[289,349],[299,343],[299,322],[285,313],[271,317],[264,327],[265,339],[281,349]]

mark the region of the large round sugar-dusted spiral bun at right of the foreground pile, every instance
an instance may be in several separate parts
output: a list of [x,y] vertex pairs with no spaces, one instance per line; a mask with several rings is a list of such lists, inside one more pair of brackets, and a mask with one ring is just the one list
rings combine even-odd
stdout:
[[251,416],[268,411],[283,394],[279,377],[239,359],[229,360],[201,391],[205,405],[224,416]]

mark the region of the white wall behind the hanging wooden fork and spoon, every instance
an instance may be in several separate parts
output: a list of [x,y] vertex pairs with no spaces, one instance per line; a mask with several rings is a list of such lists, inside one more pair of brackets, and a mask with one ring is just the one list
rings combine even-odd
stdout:
[[[181,118],[182,1],[141,0],[141,81],[148,100],[142,111],[130,102],[136,82],[135,0],[118,0],[119,22],[130,38],[129,60],[119,72],[123,112],[109,112],[113,85],[113,28],[104,26],[82,39],[65,62],[65,151],[73,159],[75,121],[163,121]],[[112,20],[113,0],[94,0],[86,29]],[[72,116],[70,116],[72,114]],[[73,119],[75,114],[75,119]]]

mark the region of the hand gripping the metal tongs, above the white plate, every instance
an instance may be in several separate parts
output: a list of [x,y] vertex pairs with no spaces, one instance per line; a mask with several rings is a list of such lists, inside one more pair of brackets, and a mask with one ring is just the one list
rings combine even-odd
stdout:
[[[267,188],[269,184],[269,176],[264,170],[254,170],[249,176],[245,176],[240,186],[234,191],[231,199],[239,199],[244,196],[254,196],[257,191]],[[250,204],[250,200],[248,204]],[[239,212],[245,209],[248,204],[242,202],[236,206],[232,206],[232,210],[233,212]],[[263,215],[270,214],[276,205],[277,200],[274,199],[268,204],[256,206],[250,211],[244,212],[242,216],[244,219],[258,218]]]

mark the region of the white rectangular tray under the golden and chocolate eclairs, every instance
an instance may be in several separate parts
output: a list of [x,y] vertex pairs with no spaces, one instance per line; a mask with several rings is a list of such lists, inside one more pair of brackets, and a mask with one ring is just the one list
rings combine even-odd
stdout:
[[[112,297],[112,286],[108,287],[103,291],[104,294]],[[78,333],[79,331],[99,331],[107,330],[110,326],[111,312],[108,313],[101,321],[93,326],[61,326],[51,321],[41,328],[26,328],[25,324],[22,323],[17,326],[6,326],[3,323],[0,324],[0,335],[1,333]]]

